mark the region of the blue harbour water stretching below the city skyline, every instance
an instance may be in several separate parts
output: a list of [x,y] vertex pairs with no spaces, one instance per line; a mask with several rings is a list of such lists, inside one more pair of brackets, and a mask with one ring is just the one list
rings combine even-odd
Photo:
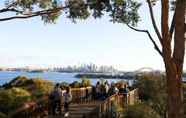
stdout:
[[[67,83],[72,83],[74,81],[80,81],[80,79],[75,78],[74,76],[77,73],[59,73],[59,72],[44,72],[44,73],[29,73],[29,72],[10,72],[10,71],[0,71],[0,85],[3,85],[5,83],[10,82],[13,78],[17,76],[26,76],[28,78],[42,78],[45,80],[50,80],[52,82],[67,82]],[[91,83],[93,85],[96,84],[96,82],[99,79],[91,79]],[[120,81],[121,79],[105,79],[109,83],[111,82],[117,82]],[[125,80],[129,83],[129,85],[132,85],[133,80]]]

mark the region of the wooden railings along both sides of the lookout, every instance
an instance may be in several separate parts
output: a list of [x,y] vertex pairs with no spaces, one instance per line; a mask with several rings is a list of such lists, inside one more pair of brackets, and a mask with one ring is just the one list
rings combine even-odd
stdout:
[[[89,103],[92,102],[92,88],[74,88],[72,92],[72,103]],[[135,104],[138,100],[137,89],[130,91],[128,94],[114,94],[104,101],[99,101],[98,107],[92,112],[86,114],[86,118],[111,118],[113,115],[117,118],[120,115],[120,111],[116,112],[115,107],[121,109],[127,108],[127,105]],[[48,115],[49,99],[48,95],[38,99],[34,102],[25,103],[22,107],[18,108],[10,114],[10,117],[26,117],[36,118]]]

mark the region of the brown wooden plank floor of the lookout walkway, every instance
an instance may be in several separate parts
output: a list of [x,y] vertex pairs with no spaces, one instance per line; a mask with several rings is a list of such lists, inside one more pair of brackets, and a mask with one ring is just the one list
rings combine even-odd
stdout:
[[[71,104],[69,106],[69,117],[68,118],[83,118],[86,114],[89,114],[91,111],[93,111],[100,102],[91,102],[91,103],[85,103],[85,104]],[[45,118],[64,118],[64,112],[62,115],[56,115],[56,116],[46,116]]]

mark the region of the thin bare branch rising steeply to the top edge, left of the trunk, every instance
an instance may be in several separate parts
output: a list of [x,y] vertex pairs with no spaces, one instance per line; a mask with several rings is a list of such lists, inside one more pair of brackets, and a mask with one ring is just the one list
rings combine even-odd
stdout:
[[149,7],[149,11],[150,11],[150,17],[151,17],[151,20],[152,20],[152,24],[153,24],[154,30],[155,30],[155,32],[156,32],[156,34],[158,36],[158,39],[159,39],[159,41],[160,41],[160,43],[162,45],[162,36],[161,36],[161,34],[159,32],[159,29],[158,29],[158,27],[156,25],[156,21],[155,21],[155,18],[154,18],[154,13],[153,13],[153,9],[152,9],[152,5],[151,5],[150,0],[147,0],[147,3],[148,3],[148,7]]

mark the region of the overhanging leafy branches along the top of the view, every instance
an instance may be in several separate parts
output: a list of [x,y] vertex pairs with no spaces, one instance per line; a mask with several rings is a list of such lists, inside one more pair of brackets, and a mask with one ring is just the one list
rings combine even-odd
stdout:
[[113,22],[136,25],[140,5],[136,0],[5,0],[6,7],[0,13],[12,12],[2,21],[41,16],[45,23],[55,23],[62,13],[73,22],[107,14]]

